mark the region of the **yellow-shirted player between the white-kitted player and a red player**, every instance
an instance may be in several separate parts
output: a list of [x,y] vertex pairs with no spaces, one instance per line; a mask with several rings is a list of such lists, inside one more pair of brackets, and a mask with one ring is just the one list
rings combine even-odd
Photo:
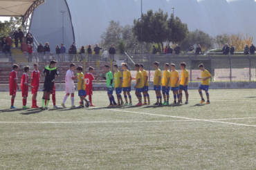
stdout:
[[88,102],[85,97],[86,97],[86,86],[84,82],[84,74],[82,73],[82,67],[77,67],[77,90],[78,90],[78,95],[80,97],[80,107],[84,107],[84,101],[86,102],[86,107],[90,106],[90,102]]

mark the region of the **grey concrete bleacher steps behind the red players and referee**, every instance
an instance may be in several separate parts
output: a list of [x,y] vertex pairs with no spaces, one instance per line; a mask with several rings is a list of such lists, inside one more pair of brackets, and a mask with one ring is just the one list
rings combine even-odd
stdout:
[[[84,62],[74,62],[76,66],[83,66],[84,67]],[[95,76],[95,82],[102,82],[104,79],[100,76],[100,73],[104,73],[104,65],[110,64],[109,62],[100,62],[99,66],[97,66],[97,62],[86,62],[85,64],[85,70],[87,72],[89,66],[93,66],[95,68],[93,75]],[[38,63],[39,65],[39,70],[41,72],[41,82],[44,82],[44,67],[48,64],[44,63]],[[65,75],[66,75],[66,70],[69,69],[69,62],[60,62],[57,64],[57,69],[60,72],[60,77],[56,77],[55,82],[56,83],[63,83],[65,82]],[[30,73],[33,71],[33,63],[26,63],[26,62],[21,62],[19,63],[19,71],[18,71],[18,77],[19,77],[19,82],[20,82],[20,77],[23,74],[23,68],[24,66],[30,66]],[[8,84],[9,82],[9,74],[10,71],[12,70],[12,63],[11,62],[0,62],[0,84]]]

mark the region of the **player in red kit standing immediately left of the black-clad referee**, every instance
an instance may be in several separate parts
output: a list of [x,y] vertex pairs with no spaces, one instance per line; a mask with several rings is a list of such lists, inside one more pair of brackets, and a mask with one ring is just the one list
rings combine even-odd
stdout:
[[39,83],[40,83],[40,72],[38,70],[38,65],[34,64],[34,70],[31,74],[31,93],[32,93],[32,108],[39,108],[37,106],[37,91],[39,88]]

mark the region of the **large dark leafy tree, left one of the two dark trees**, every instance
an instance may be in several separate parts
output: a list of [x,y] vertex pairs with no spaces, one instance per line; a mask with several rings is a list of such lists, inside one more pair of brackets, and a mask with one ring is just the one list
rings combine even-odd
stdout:
[[140,20],[134,20],[134,35],[140,42],[156,43],[163,48],[163,42],[167,40],[167,18],[167,13],[161,9],[147,11]]

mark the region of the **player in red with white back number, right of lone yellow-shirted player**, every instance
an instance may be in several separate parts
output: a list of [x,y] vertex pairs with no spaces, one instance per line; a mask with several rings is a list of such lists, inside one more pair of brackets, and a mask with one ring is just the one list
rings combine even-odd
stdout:
[[91,102],[91,96],[93,95],[93,67],[89,67],[89,72],[84,75],[85,80],[85,86],[86,86],[86,95],[89,95],[89,101],[91,103],[91,106],[94,106]]

